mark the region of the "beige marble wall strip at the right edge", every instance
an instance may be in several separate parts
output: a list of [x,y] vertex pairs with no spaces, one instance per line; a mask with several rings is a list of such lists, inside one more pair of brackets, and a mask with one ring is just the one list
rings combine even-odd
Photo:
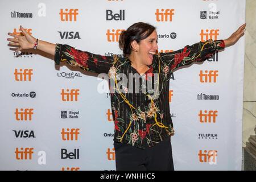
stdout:
[[256,126],[256,1],[246,0],[243,147]]

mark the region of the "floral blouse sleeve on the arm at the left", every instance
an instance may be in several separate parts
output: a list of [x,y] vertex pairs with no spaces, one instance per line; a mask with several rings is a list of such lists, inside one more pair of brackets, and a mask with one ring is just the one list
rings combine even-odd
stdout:
[[65,44],[56,44],[54,61],[57,65],[61,61],[65,61],[72,66],[96,73],[108,73],[113,65],[112,56],[101,56],[80,51]]

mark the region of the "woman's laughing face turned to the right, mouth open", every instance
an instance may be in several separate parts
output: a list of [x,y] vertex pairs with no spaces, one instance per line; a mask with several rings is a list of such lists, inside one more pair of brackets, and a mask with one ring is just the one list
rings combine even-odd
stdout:
[[138,56],[142,64],[151,65],[156,50],[158,50],[158,34],[154,30],[150,36],[138,44]]

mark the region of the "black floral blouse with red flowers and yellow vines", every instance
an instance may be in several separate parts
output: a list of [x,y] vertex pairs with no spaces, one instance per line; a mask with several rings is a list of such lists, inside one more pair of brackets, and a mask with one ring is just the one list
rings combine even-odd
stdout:
[[[184,65],[204,61],[224,48],[223,40],[210,39],[185,46],[178,51],[158,53],[153,56],[152,64],[143,75],[139,75],[131,66],[128,57],[101,56],[63,44],[56,44],[55,63],[66,61],[84,71],[108,74],[114,141],[144,148],[146,144],[152,147],[174,135],[169,105],[171,73]],[[134,86],[129,84],[133,79],[129,75],[136,73],[139,81],[135,79]],[[120,75],[126,76],[127,81],[122,80]],[[145,84],[147,81],[151,81],[154,92],[148,89],[150,84]],[[132,83],[134,84],[133,81]],[[130,92],[136,87],[138,92]]]

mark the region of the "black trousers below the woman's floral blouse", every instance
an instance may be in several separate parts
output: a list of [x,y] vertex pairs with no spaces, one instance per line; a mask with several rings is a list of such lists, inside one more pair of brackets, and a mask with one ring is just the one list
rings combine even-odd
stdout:
[[118,142],[114,148],[117,171],[174,171],[170,137],[145,149]]

